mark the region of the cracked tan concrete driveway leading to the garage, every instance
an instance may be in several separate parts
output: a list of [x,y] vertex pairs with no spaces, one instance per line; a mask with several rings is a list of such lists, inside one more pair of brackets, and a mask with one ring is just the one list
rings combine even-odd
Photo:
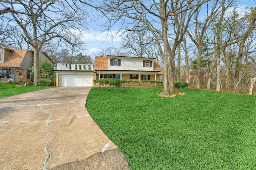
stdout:
[[85,108],[90,89],[56,87],[0,99],[0,169],[129,169]]

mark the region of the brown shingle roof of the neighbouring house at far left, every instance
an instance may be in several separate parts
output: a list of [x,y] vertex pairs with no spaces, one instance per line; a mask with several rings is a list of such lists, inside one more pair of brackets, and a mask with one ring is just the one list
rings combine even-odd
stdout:
[[0,67],[20,67],[27,50],[13,49],[12,52],[6,57],[4,63],[0,63]]

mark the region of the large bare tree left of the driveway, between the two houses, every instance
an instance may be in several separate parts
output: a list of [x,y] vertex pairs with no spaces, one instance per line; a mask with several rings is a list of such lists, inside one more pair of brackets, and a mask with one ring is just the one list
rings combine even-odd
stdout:
[[[0,4],[5,8],[10,8],[1,17],[2,22],[16,24],[23,31],[23,38],[32,46],[34,51],[34,85],[38,85],[40,75],[39,54],[44,43],[54,38],[62,38],[65,33],[72,34],[70,28],[86,26],[83,23],[85,11],[82,4],[76,0],[2,0]],[[17,9],[17,10],[16,10]],[[19,11],[19,12],[16,12]]]

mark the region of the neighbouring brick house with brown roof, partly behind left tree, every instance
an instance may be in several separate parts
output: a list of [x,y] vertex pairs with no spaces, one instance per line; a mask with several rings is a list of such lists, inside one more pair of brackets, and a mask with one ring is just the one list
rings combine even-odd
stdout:
[[[44,52],[39,54],[40,61],[46,59],[54,62]],[[0,79],[4,81],[33,81],[30,67],[34,61],[34,52],[25,49],[9,49],[0,45]]]

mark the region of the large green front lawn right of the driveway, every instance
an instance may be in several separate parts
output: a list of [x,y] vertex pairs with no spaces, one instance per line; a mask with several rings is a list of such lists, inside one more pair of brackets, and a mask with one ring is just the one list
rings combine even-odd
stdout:
[[93,88],[86,108],[132,170],[255,169],[256,96],[162,88]]

